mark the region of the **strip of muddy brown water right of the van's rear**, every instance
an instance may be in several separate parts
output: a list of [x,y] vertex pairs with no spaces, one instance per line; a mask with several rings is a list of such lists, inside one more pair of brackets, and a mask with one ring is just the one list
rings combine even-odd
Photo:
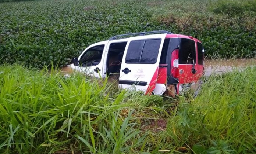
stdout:
[[231,72],[237,68],[255,66],[256,59],[205,60],[205,76]]

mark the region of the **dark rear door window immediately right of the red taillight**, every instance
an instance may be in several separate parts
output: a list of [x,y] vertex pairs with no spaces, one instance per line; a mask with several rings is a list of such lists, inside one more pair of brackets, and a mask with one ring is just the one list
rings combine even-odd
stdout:
[[179,48],[179,64],[193,64],[193,62],[196,63],[195,41],[181,38]]

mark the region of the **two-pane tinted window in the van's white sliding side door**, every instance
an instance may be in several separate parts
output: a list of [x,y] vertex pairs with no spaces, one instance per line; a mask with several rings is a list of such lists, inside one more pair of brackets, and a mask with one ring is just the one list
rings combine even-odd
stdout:
[[125,63],[156,63],[160,43],[160,38],[131,41],[127,50]]

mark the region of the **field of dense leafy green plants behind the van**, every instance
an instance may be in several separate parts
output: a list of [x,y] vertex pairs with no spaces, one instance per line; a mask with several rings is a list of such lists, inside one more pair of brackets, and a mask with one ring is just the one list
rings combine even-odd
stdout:
[[210,57],[256,53],[255,0],[0,0],[0,63],[64,66],[117,34],[168,30],[203,41]]

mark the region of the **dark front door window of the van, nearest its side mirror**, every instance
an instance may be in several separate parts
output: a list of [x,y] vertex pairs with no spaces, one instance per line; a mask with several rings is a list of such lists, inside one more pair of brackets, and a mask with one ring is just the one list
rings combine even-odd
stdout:
[[95,66],[98,65],[102,59],[104,45],[97,45],[95,47],[89,48],[80,58],[80,65]]

